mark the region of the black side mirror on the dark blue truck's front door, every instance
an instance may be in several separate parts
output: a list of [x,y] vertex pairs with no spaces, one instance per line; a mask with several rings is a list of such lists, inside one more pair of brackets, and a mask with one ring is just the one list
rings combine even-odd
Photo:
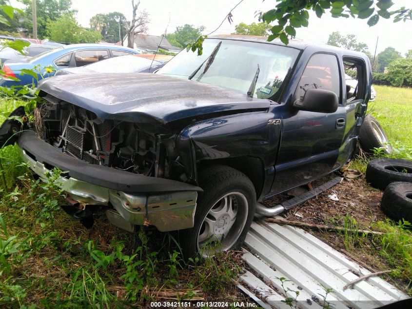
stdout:
[[294,108],[317,113],[334,113],[337,110],[337,96],[323,89],[306,90],[303,100],[296,100]]

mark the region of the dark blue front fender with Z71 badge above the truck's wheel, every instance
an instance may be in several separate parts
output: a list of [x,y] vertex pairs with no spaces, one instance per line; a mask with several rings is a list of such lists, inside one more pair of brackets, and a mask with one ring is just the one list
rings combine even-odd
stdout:
[[[270,111],[247,112],[191,124],[177,136],[177,151],[190,182],[197,184],[197,164],[205,160],[253,157],[266,169],[275,165],[281,125]],[[262,171],[263,172],[263,171]]]

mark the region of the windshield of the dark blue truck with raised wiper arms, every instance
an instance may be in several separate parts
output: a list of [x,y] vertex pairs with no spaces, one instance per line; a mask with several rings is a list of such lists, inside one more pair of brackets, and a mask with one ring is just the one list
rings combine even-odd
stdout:
[[273,44],[205,40],[201,56],[183,50],[158,73],[275,98],[297,55],[297,49]]

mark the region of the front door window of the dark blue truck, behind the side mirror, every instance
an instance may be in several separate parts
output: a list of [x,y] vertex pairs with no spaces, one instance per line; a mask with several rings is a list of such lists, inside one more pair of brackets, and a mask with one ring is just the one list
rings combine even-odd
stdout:
[[334,55],[315,54],[306,65],[299,81],[294,100],[303,100],[308,89],[330,90],[340,100],[339,66]]

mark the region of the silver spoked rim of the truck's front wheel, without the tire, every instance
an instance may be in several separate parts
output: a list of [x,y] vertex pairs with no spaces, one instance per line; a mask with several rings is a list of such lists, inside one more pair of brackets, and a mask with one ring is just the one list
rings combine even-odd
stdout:
[[248,201],[240,192],[230,192],[209,209],[197,231],[197,250],[206,258],[217,250],[233,247],[248,218]]

